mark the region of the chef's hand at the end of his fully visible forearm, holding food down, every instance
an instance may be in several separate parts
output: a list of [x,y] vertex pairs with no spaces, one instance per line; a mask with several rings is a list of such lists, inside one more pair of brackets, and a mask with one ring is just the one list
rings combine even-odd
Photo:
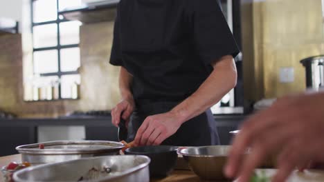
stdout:
[[177,132],[181,122],[173,112],[147,117],[138,129],[135,145],[160,145],[165,139]]

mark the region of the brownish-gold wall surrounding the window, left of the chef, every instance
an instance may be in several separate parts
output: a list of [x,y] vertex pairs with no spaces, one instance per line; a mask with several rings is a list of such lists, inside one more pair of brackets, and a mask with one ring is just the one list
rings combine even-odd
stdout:
[[[0,37],[0,110],[19,117],[57,117],[73,110],[110,110],[118,103],[118,68],[109,65],[113,22],[80,28],[81,91],[76,101],[24,102],[21,35]],[[24,54],[30,54],[24,52]]]

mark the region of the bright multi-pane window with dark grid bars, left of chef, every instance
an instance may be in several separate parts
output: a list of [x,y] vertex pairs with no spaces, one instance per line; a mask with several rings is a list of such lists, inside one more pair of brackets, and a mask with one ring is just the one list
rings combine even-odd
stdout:
[[81,0],[32,0],[33,100],[78,99],[80,21],[58,12]]

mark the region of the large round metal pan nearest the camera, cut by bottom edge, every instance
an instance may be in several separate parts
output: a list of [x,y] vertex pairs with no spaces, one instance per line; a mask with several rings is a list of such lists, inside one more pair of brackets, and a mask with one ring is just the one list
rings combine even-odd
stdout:
[[150,181],[150,158],[141,155],[98,156],[61,163],[38,165],[16,172],[16,182],[27,181],[80,181],[92,168],[109,169],[109,172],[93,177],[91,181]]

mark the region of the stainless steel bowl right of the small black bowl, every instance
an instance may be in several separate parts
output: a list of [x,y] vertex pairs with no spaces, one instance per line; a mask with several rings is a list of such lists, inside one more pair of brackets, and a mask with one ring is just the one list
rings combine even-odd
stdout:
[[224,180],[223,168],[231,146],[217,145],[183,148],[178,151],[197,176],[206,180]]

